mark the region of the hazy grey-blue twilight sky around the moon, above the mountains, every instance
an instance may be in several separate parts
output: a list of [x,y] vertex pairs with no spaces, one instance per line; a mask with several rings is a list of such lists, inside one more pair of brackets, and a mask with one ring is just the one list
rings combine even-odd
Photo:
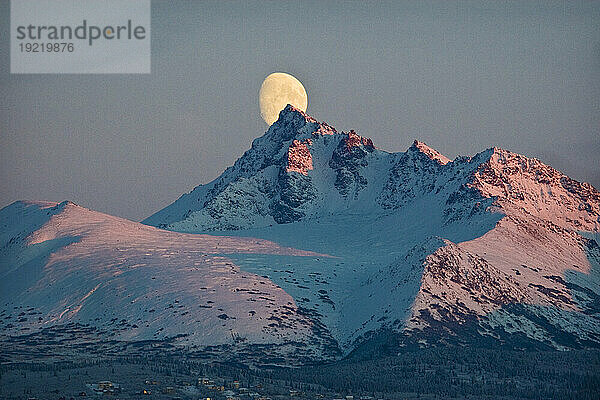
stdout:
[[0,1],[0,207],[140,220],[267,129],[284,71],[308,113],[388,151],[499,146],[600,188],[600,2],[158,1],[152,74],[11,75]]

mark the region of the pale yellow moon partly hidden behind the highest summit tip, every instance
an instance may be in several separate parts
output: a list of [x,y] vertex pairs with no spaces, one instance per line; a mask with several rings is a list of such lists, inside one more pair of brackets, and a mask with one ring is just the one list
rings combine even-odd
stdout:
[[271,126],[288,104],[306,111],[308,96],[298,79],[283,72],[274,72],[265,78],[260,87],[258,104],[260,115]]

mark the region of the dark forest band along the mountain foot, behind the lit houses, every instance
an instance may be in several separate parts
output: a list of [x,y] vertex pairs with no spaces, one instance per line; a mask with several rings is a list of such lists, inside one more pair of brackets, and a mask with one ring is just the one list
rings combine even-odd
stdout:
[[61,363],[18,363],[0,367],[28,371],[73,370],[104,365],[112,372],[131,366],[148,376],[199,376],[239,380],[306,392],[370,395],[378,398],[436,396],[438,398],[578,399],[600,398],[600,351],[506,351],[474,348],[431,348],[371,360],[342,360],[300,368],[249,368],[238,363],[207,363],[173,356],[123,356]]

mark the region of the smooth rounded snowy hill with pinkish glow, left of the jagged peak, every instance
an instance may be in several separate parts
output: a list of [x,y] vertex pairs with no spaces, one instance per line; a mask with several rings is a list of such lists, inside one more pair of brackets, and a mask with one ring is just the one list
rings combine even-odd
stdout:
[[13,203],[0,211],[0,226],[3,336],[77,323],[119,341],[184,335],[192,349],[308,343],[284,352],[335,352],[289,294],[229,258],[323,255],[260,239],[168,232],[70,202]]

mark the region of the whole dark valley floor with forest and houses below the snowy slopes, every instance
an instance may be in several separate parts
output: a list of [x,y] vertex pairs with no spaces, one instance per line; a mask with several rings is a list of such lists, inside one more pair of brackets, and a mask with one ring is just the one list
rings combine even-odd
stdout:
[[[171,354],[171,353],[165,353]],[[206,378],[210,384],[202,384]],[[377,360],[301,368],[252,368],[181,355],[4,362],[2,399],[598,399],[600,351],[515,352],[437,348]],[[238,381],[238,384],[234,383]],[[223,386],[224,391],[215,390]],[[142,394],[143,390],[149,394]],[[85,393],[85,397],[83,395]]]

